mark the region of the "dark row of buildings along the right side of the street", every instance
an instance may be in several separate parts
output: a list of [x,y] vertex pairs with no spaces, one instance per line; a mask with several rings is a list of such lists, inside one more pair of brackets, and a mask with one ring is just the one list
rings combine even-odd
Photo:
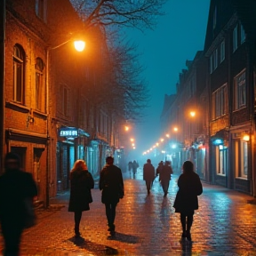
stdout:
[[[169,124],[182,127],[178,135],[184,143],[180,155],[190,153],[182,161],[192,160],[200,177],[212,184],[253,196],[256,196],[255,14],[255,1],[211,1],[204,56],[197,61],[203,66],[195,65],[195,58],[192,66],[182,71],[176,100],[169,111],[173,116]],[[195,68],[200,72],[195,73]],[[194,92],[189,73],[197,74]],[[188,92],[192,92],[192,97],[188,97]],[[184,108],[191,108],[190,98],[200,114],[193,124],[184,116]]]

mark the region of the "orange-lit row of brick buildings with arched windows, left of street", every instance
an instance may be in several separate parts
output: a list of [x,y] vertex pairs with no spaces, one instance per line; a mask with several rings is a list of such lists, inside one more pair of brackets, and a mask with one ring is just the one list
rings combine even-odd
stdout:
[[[58,190],[69,188],[76,159],[96,174],[118,147],[117,122],[108,102],[100,102],[108,47],[99,28],[84,30],[68,0],[8,0],[1,8],[1,150],[20,155],[47,206]],[[78,36],[85,36],[87,52],[73,49],[71,39]]]

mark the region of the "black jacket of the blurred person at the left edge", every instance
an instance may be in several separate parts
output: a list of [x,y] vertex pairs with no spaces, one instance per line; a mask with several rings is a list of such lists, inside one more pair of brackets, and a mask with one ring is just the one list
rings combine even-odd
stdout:
[[4,172],[0,177],[0,222],[24,227],[24,199],[34,196],[37,196],[37,188],[31,173],[20,170]]

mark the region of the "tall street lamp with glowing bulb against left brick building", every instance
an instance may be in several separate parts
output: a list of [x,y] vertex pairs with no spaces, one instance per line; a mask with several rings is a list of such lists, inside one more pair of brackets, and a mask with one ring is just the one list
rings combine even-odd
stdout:
[[[45,192],[45,204],[46,207],[49,206],[50,203],[50,178],[51,178],[51,170],[52,170],[52,129],[51,129],[51,103],[50,103],[50,76],[49,76],[49,69],[50,69],[50,52],[52,50],[60,48],[64,44],[68,44],[71,42],[73,39],[70,38],[68,41],[65,41],[62,44],[58,44],[54,47],[47,47],[46,48],[46,74],[45,74],[45,80],[46,80],[46,114],[47,114],[47,119],[46,119],[46,131],[47,131],[47,159],[46,159],[46,192]],[[85,42],[82,40],[76,40],[74,41],[74,47],[77,52],[83,52],[84,47],[85,47]]]

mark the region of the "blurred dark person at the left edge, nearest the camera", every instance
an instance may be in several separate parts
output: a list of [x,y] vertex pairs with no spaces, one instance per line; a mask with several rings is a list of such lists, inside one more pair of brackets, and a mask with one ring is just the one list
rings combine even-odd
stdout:
[[20,170],[20,157],[12,152],[4,159],[5,172],[0,177],[0,223],[4,236],[4,256],[18,256],[20,236],[26,228],[25,200],[37,196],[32,174]]

